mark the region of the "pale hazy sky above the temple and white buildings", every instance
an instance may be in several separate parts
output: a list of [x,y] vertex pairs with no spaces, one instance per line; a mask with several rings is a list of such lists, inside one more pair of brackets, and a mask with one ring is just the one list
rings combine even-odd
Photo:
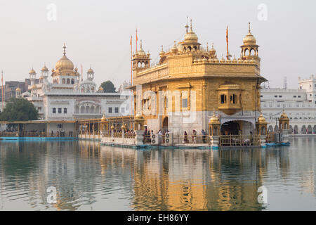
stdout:
[[[49,4],[56,6],[56,20],[48,20]],[[267,6],[267,20],[260,4]],[[270,86],[297,88],[298,76],[316,74],[316,1],[4,1],[0,0],[0,70],[4,79],[24,80],[29,70],[39,70],[46,62],[49,70],[67,57],[81,71],[92,65],[95,81],[110,79],[116,86],[130,79],[130,35],[135,30],[150,51],[152,63],[159,60],[161,46],[183,40],[186,17],[192,18],[199,43],[214,43],[221,58],[225,53],[225,29],[229,26],[230,53],[240,55],[239,46],[251,31],[260,46],[261,75]],[[263,18],[263,17],[261,17]],[[138,41],[139,48],[139,41]]]

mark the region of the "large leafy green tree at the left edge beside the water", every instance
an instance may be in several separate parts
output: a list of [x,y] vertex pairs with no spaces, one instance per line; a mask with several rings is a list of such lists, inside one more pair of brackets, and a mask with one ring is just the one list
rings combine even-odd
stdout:
[[0,113],[0,121],[28,121],[38,120],[39,112],[34,105],[25,98],[11,98]]

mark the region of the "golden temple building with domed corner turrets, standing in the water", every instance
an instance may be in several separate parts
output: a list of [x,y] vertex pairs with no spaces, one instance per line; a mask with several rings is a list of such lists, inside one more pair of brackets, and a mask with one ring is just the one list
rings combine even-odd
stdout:
[[[218,58],[211,46],[204,49],[192,29],[185,26],[183,41],[174,42],[169,51],[159,53],[156,65],[150,53],[133,54],[134,113],[142,114],[150,130],[183,134],[183,131],[208,130],[213,110],[220,118],[223,134],[255,132],[260,116],[261,77],[256,38],[244,37],[240,58],[229,53]],[[223,126],[225,124],[225,126]]]

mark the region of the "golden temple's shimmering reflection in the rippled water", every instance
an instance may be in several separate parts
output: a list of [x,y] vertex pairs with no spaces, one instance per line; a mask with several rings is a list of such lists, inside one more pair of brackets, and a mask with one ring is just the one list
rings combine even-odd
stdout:
[[[227,154],[235,155],[227,160]],[[249,154],[253,157],[245,157]],[[251,164],[249,160],[254,159],[256,163]],[[235,172],[233,169],[230,172],[222,170],[222,167],[236,163],[239,167],[244,164],[262,167],[261,152],[143,151],[100,147],[103,173],[107,169],[121,168],[123,174],[133,179],[133,202],[130,205],[133,210],[236,210],[244,203],[244,209],[260,208],[256,191],[261,186],[261,172],[258,174],[257,169],[251,169],[256,182],[228,181],[225,176]]]

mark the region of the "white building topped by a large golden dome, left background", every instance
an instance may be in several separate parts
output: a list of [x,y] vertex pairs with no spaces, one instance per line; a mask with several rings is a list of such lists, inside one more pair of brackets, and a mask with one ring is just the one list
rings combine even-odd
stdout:
[[129,111],[130,100],[127,101],[124,94],[104,93],[100,87],[97,89],[93,82],[94,71],[90,68],[87,77],[80,80],[80,74],[74,64],[64,55],[55,64],[55,70],[51,72],[52,82],[48,82],[48,69],[46,66],[41,70],[39,84],[34,84],[37,78],[32,69],[29,72],[31,84],[29,91],[21,94],[17,89],[18,96],[27,98],[39,111],[42,120],[80,120],[89,118],[114,117]]

